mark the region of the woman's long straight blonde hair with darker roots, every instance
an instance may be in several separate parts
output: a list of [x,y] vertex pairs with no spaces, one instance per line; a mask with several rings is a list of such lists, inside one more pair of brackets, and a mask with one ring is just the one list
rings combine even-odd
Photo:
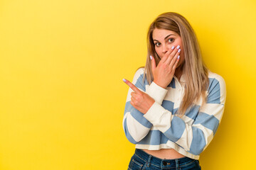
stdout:
[[152,38],[155,28],[171,30],[181,36],[185,58],[181,67],[185,74],[184,79],[186,84],[183,100],[176,114],[182,117],[186,113],[186,110],[196,104],[195,101],[200,100],[201,96],[203,96],[203,103],[206,102],[206,90],[209,84],[208,69],[202,60],[201,49],[196,38],[196,33],[186,18],[174,12],[162,13],[151,23],[147,33],[148,54],[146,56],[144,79],[146,75],[146,80],[149,84],[151,84],[154,79],[149,56],[154,57],[156,65],[161,60],[156,54]]

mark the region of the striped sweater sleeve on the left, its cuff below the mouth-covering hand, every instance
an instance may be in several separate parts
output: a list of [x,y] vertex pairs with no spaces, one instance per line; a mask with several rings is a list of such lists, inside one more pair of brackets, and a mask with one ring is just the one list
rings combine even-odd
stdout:
[[[137,88],[141,91],[144,91],[146,94],[149,94],[156,102],[159,104],[162,103],[164,97],[166,96],[167,90],[157,86],[152,82],[149,86],[146,79],[143,82],[144,76],[144,69],[138,69],[137,72],[134,74],[134,78],[132,80],[132,84],[137,86]],[[149,88],[146,89],[146,85]],[[127,101],[124,108],[124,118],[123,118],[123,128],[125,135],[129,142],[133,144],[137,144],[141,141],[148,133],[152,127],[152,124],[149,120],[144,118],[144,114],[139,112],[136,108],[134,108],[130,101],[131,101],[131,93],[132,89],[129,88]]]

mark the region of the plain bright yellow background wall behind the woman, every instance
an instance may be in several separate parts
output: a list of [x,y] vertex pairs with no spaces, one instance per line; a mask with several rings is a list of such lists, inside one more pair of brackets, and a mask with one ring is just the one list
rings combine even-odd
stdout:
[[202,169],[255,168],[256,3],[253,0],[0,1],[0,169],[127,169],[122,129],[146,31],[181,13],[203,59],[227,84],[223,120]]

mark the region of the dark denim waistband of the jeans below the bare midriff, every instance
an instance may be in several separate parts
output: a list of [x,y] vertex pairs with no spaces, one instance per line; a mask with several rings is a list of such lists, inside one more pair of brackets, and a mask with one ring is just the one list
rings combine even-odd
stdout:
[[144,152],[144,150],[142,149],[135,149],[135,154],[137,155],[137,157],[144,160],[144,162],[147,162],[148,165],[151,164],[154,166],[158,166],[159,168],[181,167],[188,164],[188,162],[195,161],[195,159],[191,159],[189,157],[182,157],[176,159],[161,159]]

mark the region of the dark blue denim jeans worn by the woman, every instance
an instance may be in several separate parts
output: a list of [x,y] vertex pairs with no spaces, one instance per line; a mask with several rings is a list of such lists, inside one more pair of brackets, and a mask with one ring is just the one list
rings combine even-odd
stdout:
[[128,170],[201,170],[199,161],[189,157],[178,159],[160,159],[144,152],[142,149],[135,149],[135,153],[129,162]]

